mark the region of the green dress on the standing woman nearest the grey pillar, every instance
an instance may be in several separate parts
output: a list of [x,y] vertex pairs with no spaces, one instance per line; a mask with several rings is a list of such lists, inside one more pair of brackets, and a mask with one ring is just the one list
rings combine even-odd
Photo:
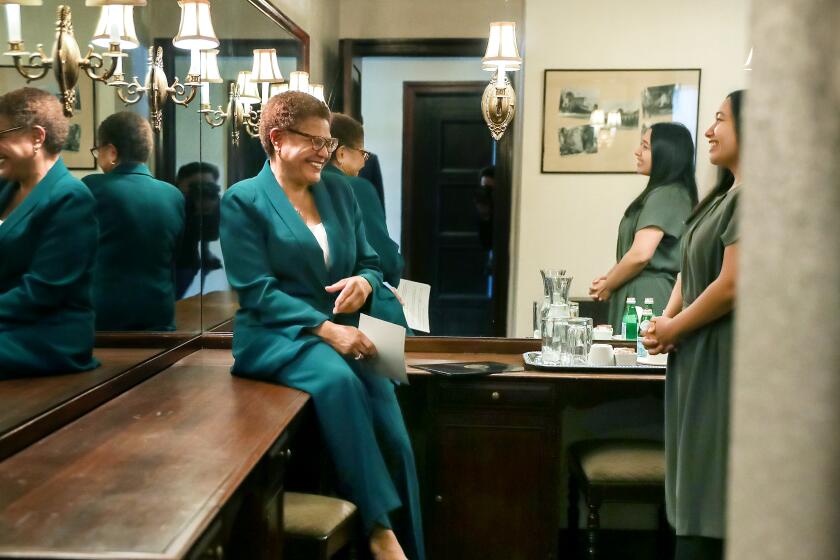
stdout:
[[[738,241],[740,187],[712,202],[683,240],[680,277],[688,307],[720,275]],[[686,336],[668,356],[665,497],[679,536],[724,538],[733,314]]]

